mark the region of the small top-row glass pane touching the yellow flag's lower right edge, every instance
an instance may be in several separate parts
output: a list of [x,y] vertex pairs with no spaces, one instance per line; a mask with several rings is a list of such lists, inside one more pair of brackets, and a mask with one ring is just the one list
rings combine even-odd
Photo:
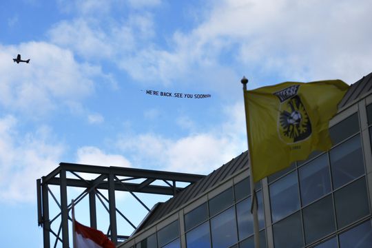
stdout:
[[357,132],[359,132],[359,118],[358,113],[355,113],[331,127],[329,135],[331,136],[333,145],[335,145]]

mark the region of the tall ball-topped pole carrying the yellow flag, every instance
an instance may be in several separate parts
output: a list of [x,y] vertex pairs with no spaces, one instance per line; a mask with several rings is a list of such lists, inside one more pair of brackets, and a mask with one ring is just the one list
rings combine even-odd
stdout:
[[[247,118],[248,108],[247,108],[246,99],[245,99],[245,92],[247,92],[248,79],[246,79],[245,76],[243,76],[240,82],[243,85],[245,116]],[[247,121],[246,121],[246,125],[247,125],[247,143],[248,143],[248,149],[249,149],[249,138],[248,138],[249,126],[248,126]],[[251,214],[253,215],[253,220],[254,220],[254,248],[259,248],[260,247],[260,236],[259,236],[259,227],[258,227],[258,200],[257,200],[256,189],[255,189],[254,180],[253,180],[250,151],[248,151],[248,166],[249,166],[249,177],[250,177],[249,183],[251,184]]]

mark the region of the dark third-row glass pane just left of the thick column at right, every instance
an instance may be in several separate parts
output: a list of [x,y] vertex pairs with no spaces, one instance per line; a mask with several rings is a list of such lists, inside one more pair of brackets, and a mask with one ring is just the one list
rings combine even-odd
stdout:
[[338,227],[344,227],[369,214],[369,202],[366,191],[366,179],[339,189],[335,196],[335,212]]

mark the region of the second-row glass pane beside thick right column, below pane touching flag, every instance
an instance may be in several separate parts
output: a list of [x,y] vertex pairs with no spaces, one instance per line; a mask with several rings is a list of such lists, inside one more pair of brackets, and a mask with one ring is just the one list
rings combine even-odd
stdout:
[[364,174],[360,135],[331,149],[329,156],[335,189]]

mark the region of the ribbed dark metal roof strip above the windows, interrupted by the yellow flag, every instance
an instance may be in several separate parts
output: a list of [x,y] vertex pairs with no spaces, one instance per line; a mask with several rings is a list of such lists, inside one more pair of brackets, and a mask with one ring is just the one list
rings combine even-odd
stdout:
[[[363,76],[362,79],[350,85],[348,92],[345,94],[342,101],[339,103],[338,108],[342,109],[358,101],[367,94],[372,93],[372,73]],[[226,163],[222,167],[214,170],[211,174],[198,180],[196,183],[192,183],[188,187],[185,187],[183,191],[179,192],[173,198],[170,198],[165,203],[160,203],[154,208],[148,215],[143,223],[138,226],[134,234],[145,227],[152,225],[156,220],[160,220],[163,216],[166,216],[170,212],[174,211],[181,205],[187,203],[192,198],[200,196],[207,189],[222,182],[225,178],[238,172],[243,167],[248,167],[248,156],[247,151],[243,152],[236,158],[233,158],[229,163]]]

